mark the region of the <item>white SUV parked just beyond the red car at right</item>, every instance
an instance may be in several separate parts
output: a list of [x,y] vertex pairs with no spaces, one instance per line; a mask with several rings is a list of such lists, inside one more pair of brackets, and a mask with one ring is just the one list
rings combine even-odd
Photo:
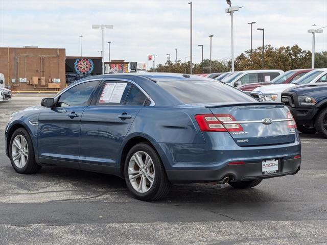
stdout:
[[244,70],[237,71],[221,81],[230,86],[238,87],[249,83],[269,83],[283,73],[283,70]]

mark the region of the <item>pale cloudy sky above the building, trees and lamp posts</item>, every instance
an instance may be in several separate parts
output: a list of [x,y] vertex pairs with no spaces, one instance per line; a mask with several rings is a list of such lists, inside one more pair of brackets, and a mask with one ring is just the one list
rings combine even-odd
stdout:
[[[79,0],[0,0],[1,47],[65,48],[66,56],[100,56],[101,30],[92,24],[112,24],[104,30],[105,61],[110,58],[147,62],[157,55],[156,64],[165,63],[166,54],[183,62],[190,58],[190,1],[79,1]],[[327,0],[231,0],[232,6],[243,6],[234,14],[235,56],[250,49],[253,24],[253,48],[265,44],[288,46],[298,44],[312,50],[312,24],[327,26]],[[193,0],[193,62],[210,56],[229,59],[231,53],[230,15],[225,0]],[[327,51],[327,28],[316,34],[316,52]]]

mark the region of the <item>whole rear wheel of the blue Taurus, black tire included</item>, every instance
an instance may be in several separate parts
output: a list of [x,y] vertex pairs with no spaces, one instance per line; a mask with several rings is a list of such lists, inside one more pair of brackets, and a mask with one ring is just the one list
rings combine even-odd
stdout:
[[164,198],[170,190],[171,183],[164,164],[147,142],[138,143],[130,149],[124,174],[127,188],[138,200],[156,201]]

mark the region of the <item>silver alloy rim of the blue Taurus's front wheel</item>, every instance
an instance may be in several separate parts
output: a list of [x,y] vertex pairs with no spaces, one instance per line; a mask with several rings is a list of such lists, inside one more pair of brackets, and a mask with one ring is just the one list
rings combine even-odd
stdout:
[[29,148],[24,136],[19,134],[14,138],[11,147],[11,157],[17,167],[22,168],[26,165],[29,157]]

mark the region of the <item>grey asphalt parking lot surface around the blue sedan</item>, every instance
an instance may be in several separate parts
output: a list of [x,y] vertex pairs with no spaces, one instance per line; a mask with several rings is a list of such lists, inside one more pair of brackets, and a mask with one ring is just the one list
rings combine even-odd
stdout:
[[10,115],[42,94],[0,103],[1,244],[327,244],[327,139],[301,134],[295,176],[236,190],[175,185],[135,200],[120,178],[61,167],[19,175],[5,155]]

